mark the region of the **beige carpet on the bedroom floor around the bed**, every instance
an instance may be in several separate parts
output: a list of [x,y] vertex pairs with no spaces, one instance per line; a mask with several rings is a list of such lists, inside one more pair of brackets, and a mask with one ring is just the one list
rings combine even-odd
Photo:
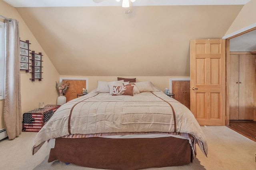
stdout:
[[[256,170],[256,142],[225,126],[202,127],[208,142],[208,157],[197,147],[193,163],[185,166],[149,168],[147,170]],[[22,132],[20,137],[0,141],[1,170],[95,170],[66,165],[64,162],[48,163],[50,149],[46,143],[32,156],[32,142],[36,133]]]

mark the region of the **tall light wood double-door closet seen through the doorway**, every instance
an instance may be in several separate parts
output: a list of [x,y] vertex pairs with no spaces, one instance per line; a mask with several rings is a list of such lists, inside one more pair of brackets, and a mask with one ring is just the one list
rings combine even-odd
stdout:
[[230,120],[254,119],[254,62],[249,52],[230,52]]

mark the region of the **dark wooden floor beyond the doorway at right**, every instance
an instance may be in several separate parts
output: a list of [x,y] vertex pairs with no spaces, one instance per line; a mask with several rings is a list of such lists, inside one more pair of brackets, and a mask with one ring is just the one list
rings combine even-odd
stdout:
[[230,121],[227,127],[256,142],[256,121]]

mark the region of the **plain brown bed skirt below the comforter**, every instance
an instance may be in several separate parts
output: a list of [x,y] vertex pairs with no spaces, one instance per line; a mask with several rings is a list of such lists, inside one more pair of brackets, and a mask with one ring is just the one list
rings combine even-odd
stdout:
[[193,154],[188,140],[175,137],[57,138],[48,162],[54,160],[90,168],[138,170],[190,164]]

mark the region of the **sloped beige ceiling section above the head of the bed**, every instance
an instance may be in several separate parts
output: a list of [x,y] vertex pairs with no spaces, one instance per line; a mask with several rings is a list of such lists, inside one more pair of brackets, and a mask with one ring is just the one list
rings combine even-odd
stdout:
[[16,9],[60,75],[189,76],[190,39],[221,39],[242,7]]

